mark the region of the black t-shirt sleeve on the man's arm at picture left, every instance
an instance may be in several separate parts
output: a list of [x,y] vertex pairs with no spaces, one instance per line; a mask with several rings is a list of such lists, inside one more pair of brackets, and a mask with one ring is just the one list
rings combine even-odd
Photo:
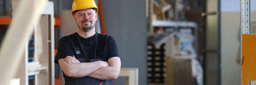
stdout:
[[58,60],[61,58],[65,58],[66,56],[73,56],[72,45],[69,42],[68,36],[64,36],[59,40],[58,43],[58,51],[55,57],[54,62],[59,64]]

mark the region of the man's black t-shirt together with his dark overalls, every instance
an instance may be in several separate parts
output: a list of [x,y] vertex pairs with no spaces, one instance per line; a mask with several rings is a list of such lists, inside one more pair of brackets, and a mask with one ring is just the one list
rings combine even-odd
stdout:
[[[98,45],[100,47],[98,47]],[[76,54],[75,48],[80,49],[80,54]],[[99,48],[103,49],[103,58],[96,56],[96,50]],[[54,62],[59,64],[59,59],[73,55],[75,55],[76,59],[81,63],[108,61],[111,57],[120,57],[115,39],[112,36],[99,33],[96,33],[89,38],[83,38],[77,33],[62,37],[59,40],[58,52]],[[102,83],[102,85],[113,85],[111,80],[99,80],[87,76],[82,78],[72,78],[63,73],[63,77],[65,78],[65,85],[99,85],[100,83]]]

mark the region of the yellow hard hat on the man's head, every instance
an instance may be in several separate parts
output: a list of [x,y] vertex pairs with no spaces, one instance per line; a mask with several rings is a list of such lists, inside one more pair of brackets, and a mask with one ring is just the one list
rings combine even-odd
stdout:
[[71,11],[72,16],[75,14],[74,11],[85,8],[95,8],[96,13],[98,12],[98,7],[94,0],[74,0]]

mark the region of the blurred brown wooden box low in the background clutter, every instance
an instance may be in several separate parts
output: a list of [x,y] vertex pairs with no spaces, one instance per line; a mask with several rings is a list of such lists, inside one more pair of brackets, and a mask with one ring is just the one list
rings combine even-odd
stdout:
[[184,56],[167,57],[167,85],[191,85],[191,59]]

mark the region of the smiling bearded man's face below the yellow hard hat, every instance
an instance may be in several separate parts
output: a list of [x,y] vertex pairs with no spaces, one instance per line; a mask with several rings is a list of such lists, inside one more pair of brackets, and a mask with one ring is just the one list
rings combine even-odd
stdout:
[[97,17],[98,13],[92,8],[79,10],[73,15],[78,28],[83,32],[88,32],[94,28]]

